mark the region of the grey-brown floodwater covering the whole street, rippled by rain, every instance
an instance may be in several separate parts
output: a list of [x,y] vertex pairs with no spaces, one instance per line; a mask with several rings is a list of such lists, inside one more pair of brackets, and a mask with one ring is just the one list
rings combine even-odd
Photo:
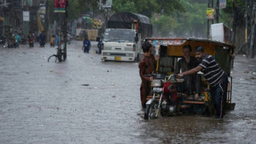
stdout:
[[256,60],[236,56],[236,107],[223,120],[144,120],[138,63],[100,62],[81,46],[62,63],[47,62],[49,44],[0,47],[0,143],[255,143]]

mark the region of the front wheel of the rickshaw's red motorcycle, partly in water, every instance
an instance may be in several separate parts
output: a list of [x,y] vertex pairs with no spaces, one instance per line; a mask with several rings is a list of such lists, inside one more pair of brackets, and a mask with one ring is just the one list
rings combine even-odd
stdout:
[[149,119],[157,118],[156,113],[158,113],[158,101],[154,100],[152,104],[146,105],[144,119],[149,120]]

